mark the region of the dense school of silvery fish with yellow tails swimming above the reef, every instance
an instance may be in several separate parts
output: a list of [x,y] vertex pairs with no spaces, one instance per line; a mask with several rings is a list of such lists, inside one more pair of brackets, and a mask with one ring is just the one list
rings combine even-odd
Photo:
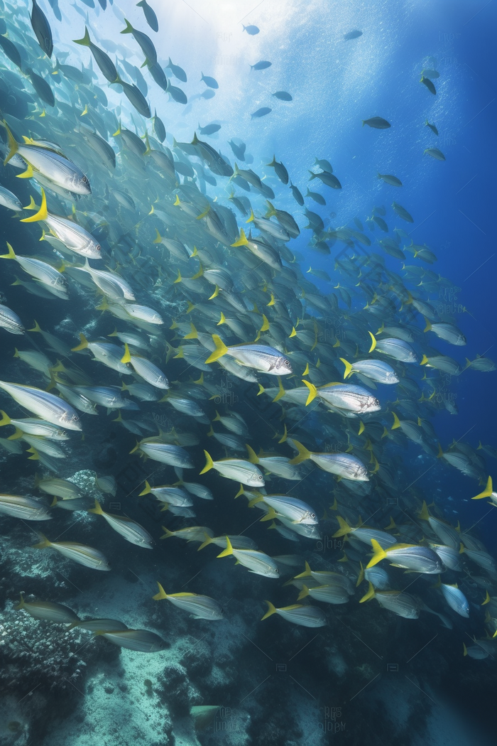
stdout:
[[[106,10],[107,1],[99,3]],[[353,615],[355,604],[372,599],[387,609],[381,613],[416,619],[431,612],[449,629],[458,620],[463,630],[458,617],[473,616],[481,636],[466,645],[461,632],[461,653],[493,656],[496,561],[475,532],[452,525],[433,495],[410,483],[400,454],[414,448],[423,464],[458,470],[469,477],[469,497],[497,507],[486,463],[496,449],[463,441],[443,446],[432,424],[440,410],[457,414],[452,399],[437,396],[447,374],[469,377],[496,366],[474,350],[465,360],[458,349],[455,357],[446,354],[447,344],[466,346],[455,319],[434,303],[440,288],[453,284],[432,269],[434,251],[405,231],[414,216],[396,201],[402,181],[378,174],[391,206],[325,228],[306,200],[325,206],[326,190],[342,188],[328,160],[316,158],[309,178],[290,175],[276,154],[250,168],[243,142],[227,142],[228,157],[200,139],[218,133],[217,124],[199,125],[191,140],[177,142],[166,134],[168,107],[187,104],[187,97],[171,78],[186,81],[186,72],[158,54],[149,35],[159,31],[151,6],[138,3],[141,28],[119,20],[111,43],[98,37],[96,24],[89,31],[83,19],[93,3],[83,4],[75,5],[83,16],[76,67],[54,47],[57,0],[50,0],[54,19],[37,0],[31,13],[0,0],[0,181],[9,184],[0,186],[7,235],[1,292],[12,305],[0,305],[2,369],[16,358],[15,380],[0,374],[0,446],[33,475],[28,495],[16,494],[14,483],[14,494],[0,495],[2,519],[28,521],[37,550],[51,551],[54,564],[62,556],[88,571],[112,571],[119,558],[81,544],[75,529],[57,539],[75,511],[89,511],[95,525],[154,552],[160,539],[186,540],[206,555],[215,545],[218,557],[228,558],[220,572],[234,559],[239,572],[276,586],[285,580],[288,604],[273,604],[268,583],[262,619],[279,615],[332,628],[330,604],[349,604]],[[259,28],[244,25],[241,32],[254,36]],[[130,34],[129,46],[120,46],[118,34]],[[361,35],[351,31],[344,41]],[[114,63],[106,48],[121,57]],[[261,60],[247,74],[270,66]],[[197,72],[212,98],[218,82]],[[437,95],[439,73],[420,72],[426,95]],[[156,87],[168,95],[160,117]],[[292,101],[285,91],[273,96],[277,105]],[[262,107],[251,116],[270,112]],[[364,114],[358,111],[358,122],[379,131],[373,137],[402,126]],[[424,153],[445,160],[435,146],[436,125],[425,125],[433,142]],[[306,195],[293,181],[304,178],[314,189]],[[291,190],[296,215],[305,207],[307,225],[279,209],[283,189]],[[22,240],[10,240],[13,223]],[[303,231],[305,255],[292,249]],[[329,256],[329,272],[306,269],[317,255]],[[15,302],[26,293],[59,322],[84,317],[77,335],[26,318]],[[171,423],[167,431],[157,432],[157,412]],[[92,417],[107,427],[108,414],[114,427],[127,430],[121,463],[142,458],[167,468],[169,483],[151,477],[136,486],[126,515],[105,507],[119,489],[114,476],[95,474],[102,495],[95,504],[66,478],[81,437],[91,441],[98,427]],[[25,463],[24,454],[34,463]],[[219,536],[195,524],[196,504],[215,504],[216,488],[246,500],[247,524],[260,520],[270,530],[261,547],[250,528],[247,535],[229,533],[229,510]],[[133,516],[133,502],[145,495],[165,511],[165,525],[152,533]],[[47,536],[38,521],[46,521]],[[276,534],[289,554],[272,551]],[[324,534],[343,549],[328,568],[311,567],[303,553]],[[425,575],[435,576],[433,583],[414,582]],[[166,567],[156,581],[153,598],[193,618],[229,613],[201,584],[199,593],[174,592]],[[125,620],[80,619],[47,599],[21,598],[17,608],[121,648],[165,649],[158,633],[129,629]]]

